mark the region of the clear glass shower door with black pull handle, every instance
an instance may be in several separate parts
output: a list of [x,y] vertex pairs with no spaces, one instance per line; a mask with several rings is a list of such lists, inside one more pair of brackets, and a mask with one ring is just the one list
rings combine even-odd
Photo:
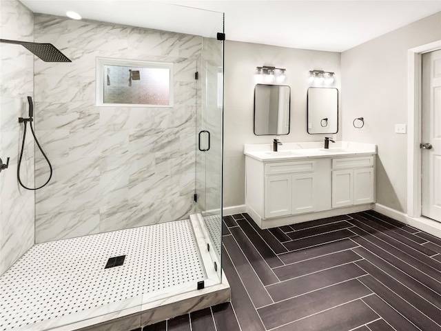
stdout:
[[[222,30],[218,32],[223,33]],[[209,253],[221,276],[222,157],[223,157],[223,41],[203,37],[198,61],[196,141],[196,212],[201,214]]]

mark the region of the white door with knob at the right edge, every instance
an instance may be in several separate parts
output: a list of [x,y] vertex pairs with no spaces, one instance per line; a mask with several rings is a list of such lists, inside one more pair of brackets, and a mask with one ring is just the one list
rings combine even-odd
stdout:
[[422,54],[422,215],[441,222],[441,50]]

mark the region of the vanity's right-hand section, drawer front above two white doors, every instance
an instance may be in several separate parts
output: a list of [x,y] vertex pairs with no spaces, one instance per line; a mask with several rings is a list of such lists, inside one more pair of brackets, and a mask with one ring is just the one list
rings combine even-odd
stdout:
[[332,169],[332,208],[373,202],[372,156],[333,159]]

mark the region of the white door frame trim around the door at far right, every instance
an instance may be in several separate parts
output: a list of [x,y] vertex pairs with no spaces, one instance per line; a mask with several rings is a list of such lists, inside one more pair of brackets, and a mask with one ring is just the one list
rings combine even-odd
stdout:
[[[422,219],[422,54],[441,49],[441,40],[407,51],[407,216]],[[433,220],[434,221],[434,220]]]

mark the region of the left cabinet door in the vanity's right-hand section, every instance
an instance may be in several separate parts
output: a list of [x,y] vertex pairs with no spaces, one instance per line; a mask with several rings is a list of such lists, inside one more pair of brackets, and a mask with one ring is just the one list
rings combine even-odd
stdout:
[[353,205],[353,170],[332,172],[332,208]]

